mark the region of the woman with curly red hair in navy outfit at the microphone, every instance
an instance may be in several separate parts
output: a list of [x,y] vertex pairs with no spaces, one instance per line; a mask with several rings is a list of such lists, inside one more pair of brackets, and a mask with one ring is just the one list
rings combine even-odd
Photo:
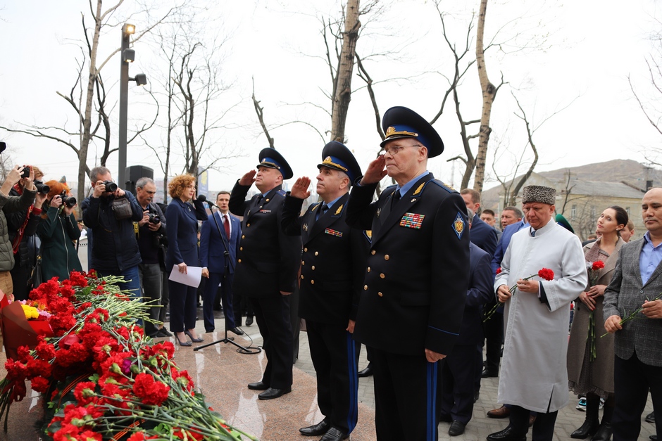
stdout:
[[[168,253],[165,255],[165,269],[186,274],[187,266],[199,267],[198,220],[206,220],[207,213],[201,201],[195,198],[195,178],[190,174],[180,174],[168,184],[168,194],[173,200],[165,210]],[[195,333],[196,290],[168,280],[170,290],[170,331],[175,333],[177,343],[191,346],[185,335],[198,343]]]

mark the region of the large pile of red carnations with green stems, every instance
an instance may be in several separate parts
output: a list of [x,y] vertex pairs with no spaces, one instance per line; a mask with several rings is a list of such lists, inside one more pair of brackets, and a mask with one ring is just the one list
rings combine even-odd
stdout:
[[51,333],[6,362],[0,417],[25,396],[27,380],[50,400],[44,434],[55,441],[255,440],[208,407],[173,362],[172,343],[144,335],[137,321],[149,320],[150,305],[119,281],[74,271],[32,290],[28,303],[47,312],[39,315]]

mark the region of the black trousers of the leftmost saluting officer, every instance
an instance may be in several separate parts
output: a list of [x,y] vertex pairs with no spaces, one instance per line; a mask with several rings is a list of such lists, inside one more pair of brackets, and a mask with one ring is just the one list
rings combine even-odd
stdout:
[[292,326],[289,324],[289,296],[251,298],[255,320],[263,338],[267,366],[262,383],[285,389],[292,385]]

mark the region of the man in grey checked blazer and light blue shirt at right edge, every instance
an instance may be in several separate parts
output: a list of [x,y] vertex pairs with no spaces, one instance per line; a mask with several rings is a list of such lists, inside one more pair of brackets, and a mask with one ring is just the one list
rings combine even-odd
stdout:
[[[644,195],[642,216],[647,233],[620,249],[604,291],[604,328],[616,333],[614,441],[637,440],[649,389],[657,437],[662,435],[662,188]],[[641,314],[621,323],[639,308]]]

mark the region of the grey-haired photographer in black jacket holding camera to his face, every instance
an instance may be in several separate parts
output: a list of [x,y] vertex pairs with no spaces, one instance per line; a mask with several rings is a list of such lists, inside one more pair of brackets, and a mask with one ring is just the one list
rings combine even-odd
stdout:
[[92,196],[80,204],[83,222],[92,229],[92,258],[89,267],[99,276],[124,276],[120,288],[140,297],[138,264],[142,262],[133,222],[142,220],[142,208],[132,193],[113,182],[106,167],[89,172]]

